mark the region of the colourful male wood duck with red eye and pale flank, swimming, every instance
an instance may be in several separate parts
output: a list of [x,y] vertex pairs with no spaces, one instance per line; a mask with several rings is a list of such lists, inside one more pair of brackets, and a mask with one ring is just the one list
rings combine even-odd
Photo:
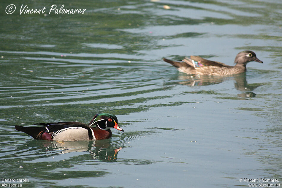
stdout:
[[41,127],[23,127],[16,125],[15,129],[31,135],[37,140],[75,141],[102,140],[112,137],[110,128],[123,132],[118,126],[116,116],[109,113],[98,113],[88,125],[77,121],[58,123],[38,123]]

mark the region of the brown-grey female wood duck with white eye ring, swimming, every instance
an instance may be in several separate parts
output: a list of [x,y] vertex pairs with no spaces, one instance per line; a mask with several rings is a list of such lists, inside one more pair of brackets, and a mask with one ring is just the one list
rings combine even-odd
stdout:
[[217,61],[210,61],[199,56],[185,57],[182,61],[171,61],[163,58],[167,63],[172,64],[178,71],[188,75],[214,75],[227,76],[245,72],[246,64],[250,61],[263,63],[257,59],[256,54],[252,51],[243,51],[237,54],[234,63],[235,66],[229,66]]

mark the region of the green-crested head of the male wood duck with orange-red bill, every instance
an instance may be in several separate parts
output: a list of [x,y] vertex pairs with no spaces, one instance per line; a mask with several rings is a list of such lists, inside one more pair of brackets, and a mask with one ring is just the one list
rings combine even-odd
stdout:
[[109,113],[98,113],[94,116],[92,121],[88,124],[89,127],[98,127],[102,130],[107,130],[110,128],[115,128],[123,132],[118,126],[118,119],[113,114]]

